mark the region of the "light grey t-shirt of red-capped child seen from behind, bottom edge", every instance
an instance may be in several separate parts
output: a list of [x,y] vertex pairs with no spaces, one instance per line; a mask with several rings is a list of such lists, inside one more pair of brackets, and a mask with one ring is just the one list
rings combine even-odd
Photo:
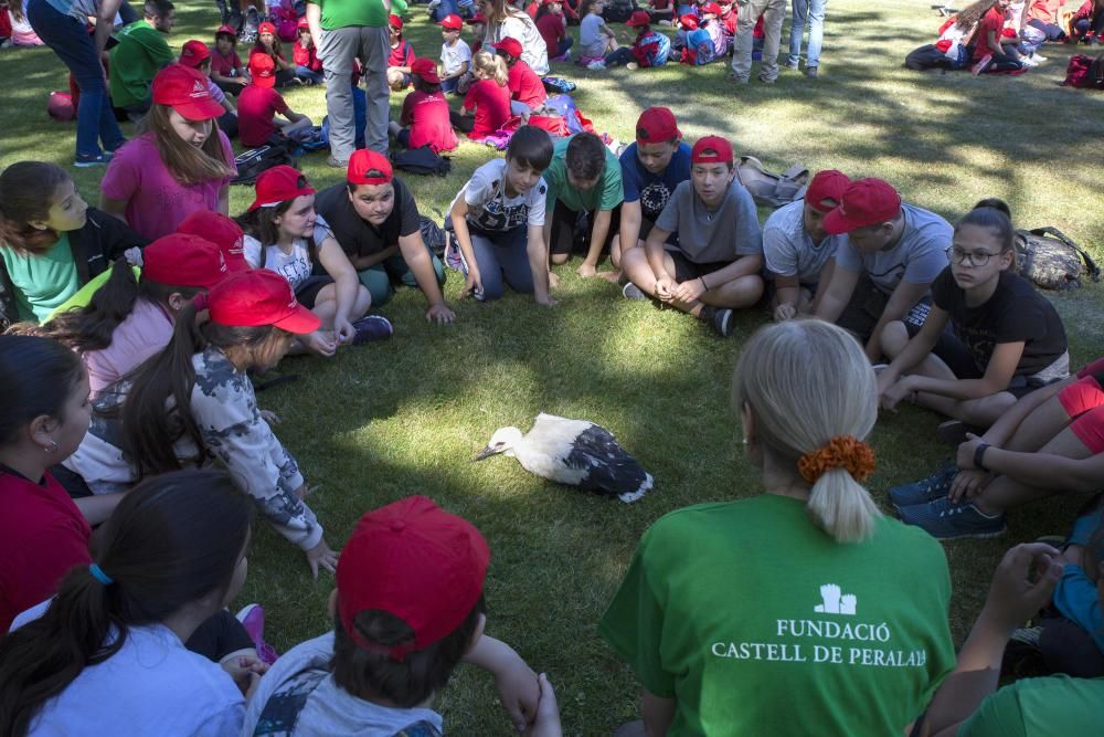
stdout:
[[440,736],[442,718],[433,709],[380,706],[339,686],[329,672],[332,655],[333,632],[280,655],[250,699],[242,737]]

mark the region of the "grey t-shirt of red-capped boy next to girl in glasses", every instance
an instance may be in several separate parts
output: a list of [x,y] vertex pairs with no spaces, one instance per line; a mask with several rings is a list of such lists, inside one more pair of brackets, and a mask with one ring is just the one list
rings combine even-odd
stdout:
[[863,253],[848,239],[836,252],[836,265],[849,272],[866,272],[870,281],[891,294],[904,281],[931,284],[951,263],[947,251],[954,228],[946,220],[912,204],[902,204],[904,230],[891,251]]

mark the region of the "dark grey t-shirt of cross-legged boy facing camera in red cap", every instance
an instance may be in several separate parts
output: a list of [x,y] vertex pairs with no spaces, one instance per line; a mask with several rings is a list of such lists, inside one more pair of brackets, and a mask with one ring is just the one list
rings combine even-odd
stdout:
[[[707,210],[692,181],[680,182],[656,220],[656,228],[679,234],[678,249],[696,264],[735,261],[763,253],[755,201],[735,179],[716,210]],[[669,246],[675,248],[675,246]]]

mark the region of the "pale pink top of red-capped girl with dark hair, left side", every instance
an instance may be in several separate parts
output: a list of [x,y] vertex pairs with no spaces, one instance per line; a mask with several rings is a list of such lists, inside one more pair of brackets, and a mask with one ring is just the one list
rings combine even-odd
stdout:
[[112,345],[81,358],[96,394],[161,352],[172,338],[172,317],[161,305],[137,299],[135,308],[112,333]]

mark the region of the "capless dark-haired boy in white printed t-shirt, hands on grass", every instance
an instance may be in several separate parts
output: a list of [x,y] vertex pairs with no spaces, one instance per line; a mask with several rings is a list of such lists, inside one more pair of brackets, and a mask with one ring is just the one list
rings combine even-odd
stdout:
[[521,126],[506,158],[476,169],[453,200],[448,223],[467,270],[465,295],[498,299],[505,278],[513,291],[552,304],[543,230],[548,186],[541,178],[551,160],[548,133]]

